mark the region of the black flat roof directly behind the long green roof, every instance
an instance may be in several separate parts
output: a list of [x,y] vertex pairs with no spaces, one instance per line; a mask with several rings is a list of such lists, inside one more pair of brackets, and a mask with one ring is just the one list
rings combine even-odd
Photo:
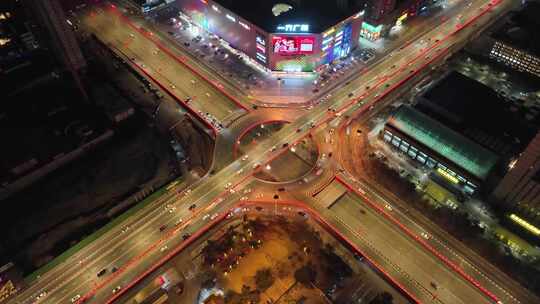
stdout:
[[536,134],[528,122],[491,88],[458,72],[449,73],[424,95],[417,109],[499,154],[515,153]]

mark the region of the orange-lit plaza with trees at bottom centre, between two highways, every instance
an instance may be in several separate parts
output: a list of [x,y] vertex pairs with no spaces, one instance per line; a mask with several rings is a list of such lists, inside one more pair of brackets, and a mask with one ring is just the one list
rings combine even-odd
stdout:
[[412,302],[308,210],[244,204],[115,303]]

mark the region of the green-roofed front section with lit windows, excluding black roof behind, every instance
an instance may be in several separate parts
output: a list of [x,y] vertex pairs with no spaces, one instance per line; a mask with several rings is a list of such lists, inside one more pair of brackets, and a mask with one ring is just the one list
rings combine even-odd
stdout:
[[497,155],[409,106],[388,120],[382,138],[467,194],[488,178]]

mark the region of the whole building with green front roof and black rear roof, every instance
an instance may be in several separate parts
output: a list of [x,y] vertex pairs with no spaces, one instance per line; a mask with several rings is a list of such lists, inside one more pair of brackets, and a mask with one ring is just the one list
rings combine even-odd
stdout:
[[466,194],[493,189],[537,136],[537,118],[455,71],[429,84],[415,102],[388,120],[384,141]]

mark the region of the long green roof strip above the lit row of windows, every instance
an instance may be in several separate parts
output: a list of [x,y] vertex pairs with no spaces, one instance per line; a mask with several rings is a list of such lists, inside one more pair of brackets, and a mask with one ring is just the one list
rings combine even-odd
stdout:
[[411,107],[400,107],[389,123],[479,179],[497,163],[494,153]]

